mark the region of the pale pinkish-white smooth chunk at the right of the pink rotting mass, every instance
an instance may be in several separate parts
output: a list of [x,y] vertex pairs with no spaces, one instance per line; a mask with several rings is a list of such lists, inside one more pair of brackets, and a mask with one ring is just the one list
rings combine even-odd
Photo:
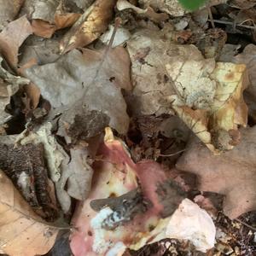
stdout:
[[203,253],[214,247],[215,234],[212,218],[189,199],[181,202],[166,227],[168,237],[192,241]]

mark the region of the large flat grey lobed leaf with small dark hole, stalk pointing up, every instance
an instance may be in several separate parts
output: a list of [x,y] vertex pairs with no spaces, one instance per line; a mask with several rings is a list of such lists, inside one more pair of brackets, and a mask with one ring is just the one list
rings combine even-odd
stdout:
[[[74,49],[55,63],[25,70],[26,77],[38,85],[52,107],[64,112],[62,130],[71,127],[79,116],[95,111],[108,117],[119,133],[127,131],[129,119],[120,88],[131,88],[129,55],[122,47],[107,50]],[[105,126],[106,117],[102,117]]]

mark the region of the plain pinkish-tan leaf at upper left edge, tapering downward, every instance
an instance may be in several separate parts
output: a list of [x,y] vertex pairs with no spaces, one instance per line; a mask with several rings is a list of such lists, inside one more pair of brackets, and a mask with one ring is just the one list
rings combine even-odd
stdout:
[[0,52],[11,67],[17,66],[20,45],[31,34],[32,26],[25,16],[10,22],[0,33]]

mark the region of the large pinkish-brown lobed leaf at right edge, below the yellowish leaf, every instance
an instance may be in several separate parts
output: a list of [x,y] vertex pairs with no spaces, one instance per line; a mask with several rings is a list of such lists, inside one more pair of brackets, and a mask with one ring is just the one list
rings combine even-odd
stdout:
[[199,177],[199,189],[225,195],[224,213],[236,218],[256,209],[256,127],[241,129],[241,143],[213,155],[198,140],[177,161],[177,168]]

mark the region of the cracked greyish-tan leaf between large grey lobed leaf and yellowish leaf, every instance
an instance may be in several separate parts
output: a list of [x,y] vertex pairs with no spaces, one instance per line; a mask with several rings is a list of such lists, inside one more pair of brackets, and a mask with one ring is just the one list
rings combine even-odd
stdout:
[[134,88],[127,102],[133,114],[173,113],[166,97],[172,96],[175,91],[165,67],[171,61],[172,46],[162,33],[151,30],[135,33],[128,40]]

